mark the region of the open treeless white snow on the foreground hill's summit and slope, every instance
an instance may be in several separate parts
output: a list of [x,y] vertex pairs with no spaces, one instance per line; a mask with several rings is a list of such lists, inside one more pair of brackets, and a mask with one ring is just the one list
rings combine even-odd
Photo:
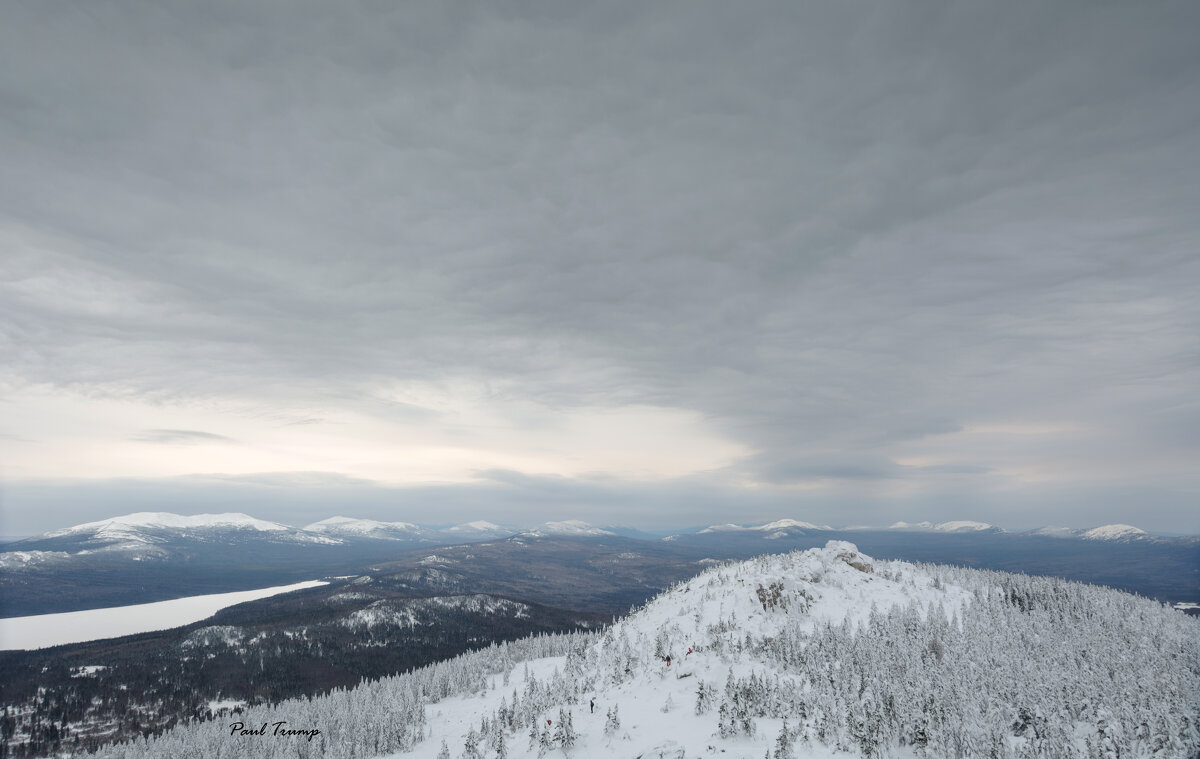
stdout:
[[[856,568],[854,564],[858,568]],[[877,569],[886,569],[884,573]],[[886,574],[886,576],[884,576]],[[779,584],[781,603],[763,608],[757,590]],[[686,653],[686,646],[696,647],[713,635],[714,626],[728,626],[718,633],[730,638],[731,644],[745,635],[766,638],[782,628],[799,623],[809,630],[826,622],[851,624],[865,622],[872,605],[881,611],[894,605],[907,605],[912,600],[923,608],[940,608],[947,618],[971,603],[967,591],[946,585],[934,587],[932,578],[913,564],[902,562],[876,562],[858,551],[852,543],[830,540],[821,549],[762,556],[745,562],[726,563],[707,569],[654,600],[643,609],[613,624],[608,645],[617,646],[622,639],[635,641],[641,649],[653,650],[655,635],[666,632],[672,640],[690,641],[674,650],[668,665],[653,661],[650,667],[635,673],[632,679],[607,687],[594,694],[595,712],[589,711],[588,699],[570,705],[572,722],[578,733],[578,742],[570,751],[571,759],[607,759],[610,757],[762,757],[774,748],[781,721],[757,719],[755,737],[720,739],[713,735],[713,715],[695,715],[697,682],[704,681],[718,687],[732,671],[736,676],[749,676],[761,669],[751,659],[731,664],[719,656],[704,651]],[[806,606],[806,610],[800,611]],[[643,641],[637,644],[636,641]],[[607,652],[605,639],[593,644],[598,661],[614,658]],[[480,715],[493,712],[515,688],[526,688],[524,673],[541,681],[552,673],[565,668],[565,657],[536,659],[515,667],[509,685],[499,677],[493,689],[481,693],[443,699],[428,706],[432,735],[412,752],[390,754],[394,759],[434,759],[442,741],[446,742],[451,755],[461,753],[467,731],[478,728]],[[786,676],[786,673],[779,673]],[[614,735],[605,735],[605,716],[608,707],[620,710],[622,728]],[[558,712],[542,715],[545,719],[558,718]],[[514,736],[508,745],[509,755],[536,757],[536,751],[527,749],[523,736]],[[857,754],[835,753],[821,745],[806,745],[805,758],[852,757]],[[551,755],[558,755],[556,751]]]

